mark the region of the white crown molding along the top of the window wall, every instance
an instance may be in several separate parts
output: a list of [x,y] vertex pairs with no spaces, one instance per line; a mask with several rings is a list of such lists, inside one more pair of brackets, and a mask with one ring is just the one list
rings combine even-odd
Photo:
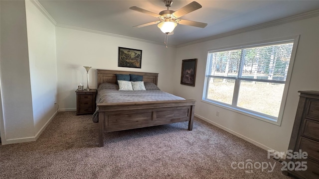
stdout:
[[281,25],[281,24],[285,24],[285,23],[289,23],[289,22],[294,22],[294,21],[298,21],[298,20],[303,20],[303,19],[316,17],[316,16],[319,16],[319,10],[314,10],[314,11],[310,11],[310,12],[306,12],[306,13],[302,13],[302,14],[298,14],[298,15],[294,15],[294,16],[290,16],[290,17],[286,17],[286,18],[282,18],[282,19],[278,19],[278,20],[273,20],[273,21],[253,25],[250,27],[246,27],[246,28],[218,34],[218,35],[214,35],[211,37],[207,37],[207,38],[195,40],[192,42],[184,43],[181,45],[177,45],[176,47],[177,48],[184,47],[184,46],[191,45],[191,44],[196,44],[196,43],[205,42],[205,41],[209,41],[209,40],[215,40],[215,39],[219,39],[219,38],[223,38],[223,37],[228,37],[231,35],[236,35],[236,34],[249,32],[249,31],[253,31],[253,30],[259,30],[259,29],[272,27],[272,26],[277,26],[277,25]]

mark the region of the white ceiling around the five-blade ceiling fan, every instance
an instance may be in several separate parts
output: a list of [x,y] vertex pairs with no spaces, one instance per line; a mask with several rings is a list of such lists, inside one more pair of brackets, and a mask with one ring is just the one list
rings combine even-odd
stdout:
[[[163,43],[157,25],[133,28],[157,18],[129,9],[138,6],[159,13],[162,0],[38,0],[58,25],[92,29]],[[177,10],[192,0],[173,0],[169,9]],[[168,37],[170,45],[238,30],[292,15],[319,9],[319,0],[196,0],[202,8],[180,19],[205,22],[205,28],[177,25]]]

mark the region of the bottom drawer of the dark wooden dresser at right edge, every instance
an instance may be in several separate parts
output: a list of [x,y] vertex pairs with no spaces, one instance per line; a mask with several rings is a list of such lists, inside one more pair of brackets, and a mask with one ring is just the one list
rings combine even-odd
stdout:
[[312,160],[303,160],[307,161],[307,170],[306,171],[293,171],[305,179],[319,179],[319,163],[316,163]]

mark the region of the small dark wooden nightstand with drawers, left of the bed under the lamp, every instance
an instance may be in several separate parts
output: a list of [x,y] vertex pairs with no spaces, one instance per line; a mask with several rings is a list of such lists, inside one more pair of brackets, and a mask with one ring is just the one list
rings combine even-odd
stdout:
[[76,90],[76,115],[93,114],[95,112],[95,96],[96,89],[91,90]]

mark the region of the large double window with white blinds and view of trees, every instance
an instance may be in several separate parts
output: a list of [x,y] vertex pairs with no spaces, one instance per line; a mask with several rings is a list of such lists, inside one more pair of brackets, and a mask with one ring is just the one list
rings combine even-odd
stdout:
[[293,45],[287,40],[208,51],[203,100],[277,122]]

